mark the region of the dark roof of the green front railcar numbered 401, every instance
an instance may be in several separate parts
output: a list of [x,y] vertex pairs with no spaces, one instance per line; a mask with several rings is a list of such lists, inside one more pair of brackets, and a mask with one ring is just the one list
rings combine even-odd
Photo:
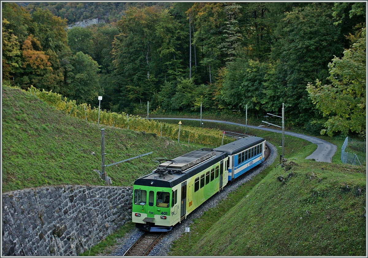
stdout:
[[227,153],[215,149],[194,150],[173,160],[167,160],[152,173],[135,180],[134,184],[171,188],[226,157]]

